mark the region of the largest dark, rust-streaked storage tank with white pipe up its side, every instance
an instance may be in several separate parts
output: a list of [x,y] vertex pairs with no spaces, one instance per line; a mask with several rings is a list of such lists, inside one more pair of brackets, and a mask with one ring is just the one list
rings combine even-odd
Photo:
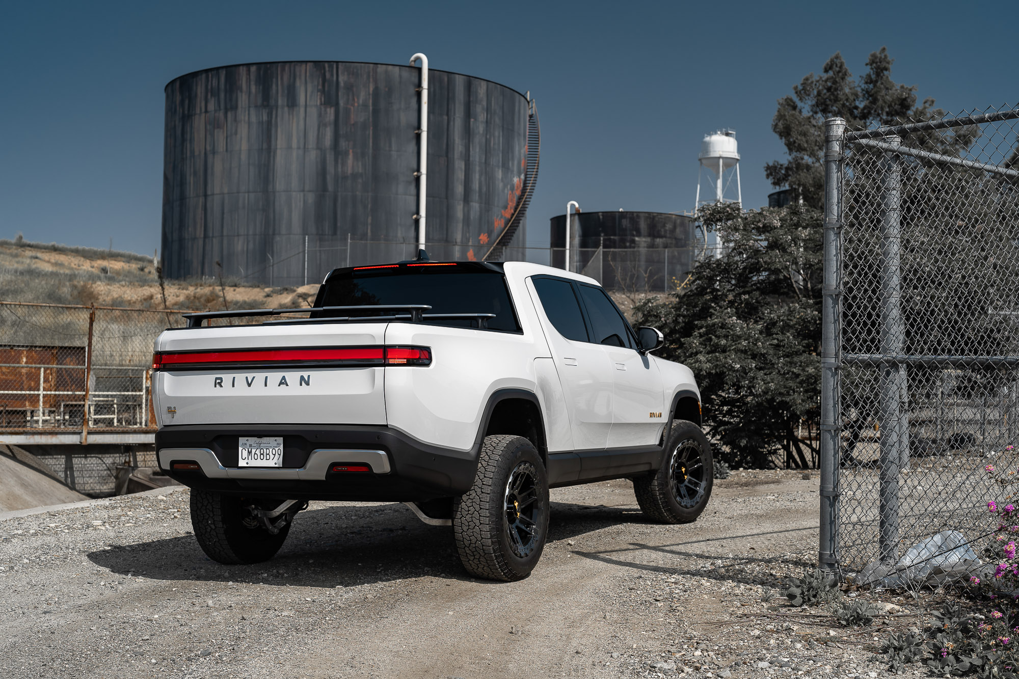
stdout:
[[[336,266],[413,256],[420,73],[290,61],[170,82],[165,275],[292,285]],[[511,256],[490,251],[511,239],[525,245],[531,102],[490,81],[430,69],[428,110],[429,254]]]

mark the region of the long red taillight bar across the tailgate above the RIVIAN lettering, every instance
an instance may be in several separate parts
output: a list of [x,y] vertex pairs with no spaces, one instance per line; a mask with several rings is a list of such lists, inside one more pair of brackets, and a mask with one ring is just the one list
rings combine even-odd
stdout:
[[330,349],[259,349],[231,352],[164,352],[152,355],[152,369],[201,370],[246,364],[322,363],[340,366],[431,365],[427,347],[344,347]]

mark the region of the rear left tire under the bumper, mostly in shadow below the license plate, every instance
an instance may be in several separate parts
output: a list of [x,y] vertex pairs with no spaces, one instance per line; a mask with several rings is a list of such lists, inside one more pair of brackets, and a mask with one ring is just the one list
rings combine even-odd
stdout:
[[256,504],[261,506],[251,499],[192,488],[192,526],[199,545],[210,559],[221,564],[257,564],[279,552],[290,532],[290,523],[273,535],[248,511]]

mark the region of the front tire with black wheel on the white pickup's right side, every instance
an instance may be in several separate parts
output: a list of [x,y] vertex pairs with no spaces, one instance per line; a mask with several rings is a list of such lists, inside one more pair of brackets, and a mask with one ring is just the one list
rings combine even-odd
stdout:
[[711,446],[704,432],[693,422],[673,420],[661,467],[633,479],[637,504],[645,516],[659,523],[696,521],[711,499],[713,472]]

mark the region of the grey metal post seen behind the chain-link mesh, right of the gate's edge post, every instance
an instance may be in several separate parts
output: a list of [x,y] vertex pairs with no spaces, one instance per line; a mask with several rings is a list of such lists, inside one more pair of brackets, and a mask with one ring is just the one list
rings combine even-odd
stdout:
[[[898,136],[884,138],[886,144],[899,146]],[[898,361],[903,355],[905,328],[902,321],[902,277],[900,271],[902,234],[900,203],[902,174],[899,155],[886,152],[881,160],[880,223],[880,470],[878,472],[878,542],[880,559],[886,564],[899,560],[899,473],[908,451],[903,451],[904,420],[902,401],[906,372]]]

